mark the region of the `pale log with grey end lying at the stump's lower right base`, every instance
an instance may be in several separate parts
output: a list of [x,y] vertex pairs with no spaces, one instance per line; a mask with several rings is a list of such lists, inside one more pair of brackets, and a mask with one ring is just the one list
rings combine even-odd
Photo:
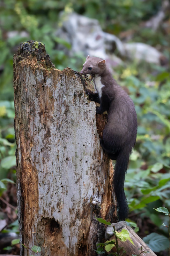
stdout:
[[[112,223],[112,226],[115,226],[115,229],[118,232],[121,232],[122,229],[125,229],[129,232],[130,238],[132,239],[134,244],[131,244],[129,240],[126,242],[122,242],[118,240],[119,248],[123,247],[123,249],[126,251],[123,255],[123,250],[120,251],[122,256],[137,254],[139,255],[141,253],[141,247],[142,247],[142,253],[141,256],[156,256],[156,254],[147,246],[147,244],[144,243],[144,241],[135,233],[135,231],[126,225],[125,221],[120,221],[118,223]],[[105,233],[105,239],[106,240],[112,240],[115,239],[115,235],[110,236],[110,234],[113,233],[113,227],[108,226]],[[109,238],[109,239],[108,239]],[[140,250],[138,250],[140,249]],[[112,252],[116,252],[116,247],[113,247]],[[147,253],[146,253],[147,252]],[[148,253],[149,252],[149,253]],[[109,253],[108,253],[109,254]]]

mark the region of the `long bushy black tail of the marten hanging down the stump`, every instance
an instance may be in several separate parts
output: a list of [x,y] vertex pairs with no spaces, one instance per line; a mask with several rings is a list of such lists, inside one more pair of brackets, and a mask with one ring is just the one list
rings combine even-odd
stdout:
[[128,218],[129,208],[124,193],[124,180],[128,168],[129,152],[124,148],[116,159],[113,177],[114,192],[117,200],[117,213],[119,220]]

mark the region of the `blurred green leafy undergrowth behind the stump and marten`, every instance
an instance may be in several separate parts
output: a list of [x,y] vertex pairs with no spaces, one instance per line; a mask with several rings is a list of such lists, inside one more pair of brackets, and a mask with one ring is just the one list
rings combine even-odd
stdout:
[[[13,103],[13,54],[21,42],[33,39],[46,45],[56,68],[81,70],[83,54],[71,58],[56,50],[55,36],[59,12],[75,11],[98,19],[102,29],[124,41],[143,42],[156,47],[167,58],[166,65],[124,60],[114,69],[115,79],[127,87],[138,118],[136,148],[129,163],[125,192],[129,202],[129,225],[144,237],[152,232],[168,236],[162,222],[167,216],[153,208],[170,207],[170,14],[157,31],[143,26],[161,8],[161,0],[4,0],[0,3],[0,219],[7,225],[2,232],[17,232],[16,169]],[[24,33],[22,33],[25,31]],[[130,35],[128,40],[128,36]],[[116,54],[116,52],[115,52]],[[10,180],[8,180],[10,179]],[[5,201],[4,201],[5,200]],[[13,206],[13,208],[9,205]],[[14,222],[15,221],[15,222]],[[13,223],[13,224],[11,224]],[[138,227],[138,228],[137,228]],[[159,244],[159,242],[157,242]],[[162,242],[161,242],[162,244]],[[167,245],[159,250],[166,255]],[[8,252],[17,250],[7,247]]]

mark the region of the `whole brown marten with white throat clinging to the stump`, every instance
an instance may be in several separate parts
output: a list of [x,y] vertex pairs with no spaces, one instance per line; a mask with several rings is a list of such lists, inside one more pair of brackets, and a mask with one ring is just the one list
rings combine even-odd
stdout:
[[108,122],[103,130],[103,140],[100,140],[100,144],[110,158],[116,160],[114,192],[119,220],[125,220],[128,217],[128,204],[123,189],[124,179],[129,156],[135,146],[137,115],[133,101],[114,80],[105,62],[101,58],[88,56],[80,74],[94,76],[97,92],[88,95],[91,100],[100,103],[97,113],[101,114],[106,110],[108,113]]

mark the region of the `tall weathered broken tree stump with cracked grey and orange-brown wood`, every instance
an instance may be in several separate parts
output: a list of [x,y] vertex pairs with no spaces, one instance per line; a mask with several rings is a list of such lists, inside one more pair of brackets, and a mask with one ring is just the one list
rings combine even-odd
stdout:
[[[20,44],[14,56],[20,240],[40,255],[96,255],[105,225],[95,217],[115,222],[113,166],[81,79],[55,69],[39,42]],[[21,246],[20,255],[30,252]]]

